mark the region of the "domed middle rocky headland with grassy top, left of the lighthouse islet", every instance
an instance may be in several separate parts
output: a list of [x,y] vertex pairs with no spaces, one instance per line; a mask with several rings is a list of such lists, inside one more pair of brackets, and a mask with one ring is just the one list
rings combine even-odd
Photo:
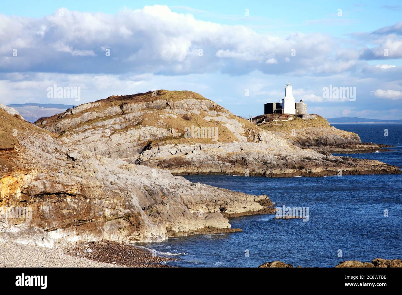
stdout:
[[[378,161],[323,155],[189,91],[112,96],[35,122],[69,146],[173,174],[324,176],[400,173]],[[339,130],[340,131],[340,130]],[[351,133],[351,132],[345,132]],[[339,138],[348,138],[344,134]],[[325,134],[323,135],[325,138]],[[332,140],[327,138],[327,141]],[[351,135],[353,142],[359,137]]]

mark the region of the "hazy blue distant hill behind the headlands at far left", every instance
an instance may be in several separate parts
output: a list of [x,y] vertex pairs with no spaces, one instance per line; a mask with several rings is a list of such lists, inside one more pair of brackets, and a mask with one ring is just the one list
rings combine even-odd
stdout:
[[71,104],[9,104],[16,109],[28,122],[35,122],[39,118],[49,117],[73,108]]

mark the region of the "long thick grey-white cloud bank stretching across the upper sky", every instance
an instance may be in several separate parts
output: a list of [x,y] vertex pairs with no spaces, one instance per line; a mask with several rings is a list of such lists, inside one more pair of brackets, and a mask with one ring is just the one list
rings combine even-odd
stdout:
[[[273,37],[244,26],[197,20],[161,5],[117,14],[61,8],[38,19],[0,14],[0,39],[3,72],[335,73],[355,64],[345,58],[337,63],[333,53],[339,45],[330,36]],[[14,48],[18,57],[12,56]],[[105,56],[107,49],[110,57]],[[297,58],[289,65],[292,50]],[[275,64],[283,67],[270,66]]]

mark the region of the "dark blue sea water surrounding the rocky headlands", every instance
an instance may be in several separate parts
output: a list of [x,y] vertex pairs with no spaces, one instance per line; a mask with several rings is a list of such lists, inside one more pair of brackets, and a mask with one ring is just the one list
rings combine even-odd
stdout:
[[[391,152],[347,156],[402,167],[402,124],[333,125],[358,133],[363,142],[395,145]],[[384,129],[388,129],[388,136],[384,136]],[[402,175],[186,178],[245,193],[267,194],[278,207],[309,208],[309,220],[277,220],[268,214],[230,218],[232,228],[242,228],[242,232],[139,245],[155,254],[178,258],[167,262],[172,266],[258,267],[281,260],[294,266],[333,267],[343,260],[402,258]],[[388,217],[384,216],[387,210]]]

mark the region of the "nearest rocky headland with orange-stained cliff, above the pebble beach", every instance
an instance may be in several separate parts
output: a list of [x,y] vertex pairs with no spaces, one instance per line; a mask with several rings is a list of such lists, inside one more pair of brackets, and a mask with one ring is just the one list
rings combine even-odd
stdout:
[[0,134],[0,241],[156,242],[238,231],[226,217],[275,211],[266,195],[96,155],[2,108]]

